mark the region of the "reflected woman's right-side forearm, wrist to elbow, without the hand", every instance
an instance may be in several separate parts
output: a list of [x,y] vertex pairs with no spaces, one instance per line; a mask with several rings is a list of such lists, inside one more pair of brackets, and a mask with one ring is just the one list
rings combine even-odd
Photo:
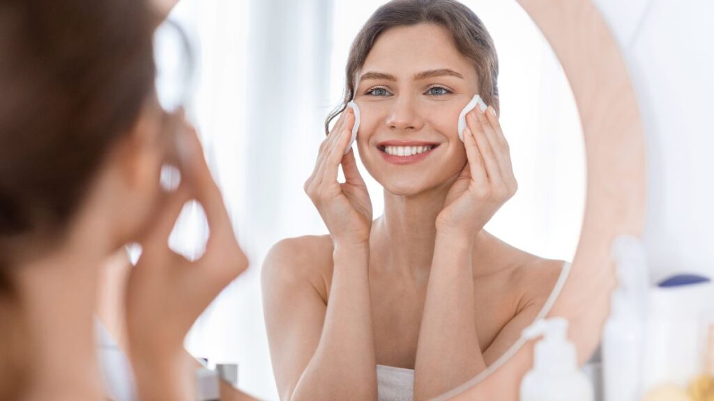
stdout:
[[476,333],[471,243],[437,235],[416,353],[416,400],[451,390],[486,367]]

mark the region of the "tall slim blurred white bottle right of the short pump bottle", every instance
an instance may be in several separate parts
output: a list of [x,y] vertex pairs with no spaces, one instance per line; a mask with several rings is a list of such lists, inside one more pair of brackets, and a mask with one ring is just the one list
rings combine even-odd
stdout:
[[618,287],[603,328],[605,401],[640,400],[649,287],[645,251],[638,238],[621,235],[613,243],[613,257]]

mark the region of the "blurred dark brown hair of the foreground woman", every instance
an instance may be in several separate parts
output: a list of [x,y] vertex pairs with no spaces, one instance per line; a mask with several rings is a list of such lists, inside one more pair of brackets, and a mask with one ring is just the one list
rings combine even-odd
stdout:
[[[21,305],[11,307],[11,244],[61,237],[136,123],[153,91],[149,10],[146,0],[0,1],[0,365],[10,367],[1,375],[16,368],[8,340],[23,330]],[[1,399],[18,388],[7,378]]]

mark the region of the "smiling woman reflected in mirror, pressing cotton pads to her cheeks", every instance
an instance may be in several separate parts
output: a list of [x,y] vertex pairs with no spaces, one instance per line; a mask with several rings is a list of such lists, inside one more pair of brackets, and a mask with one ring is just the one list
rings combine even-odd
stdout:
[[[346,70],[344,103],[361,110],[357,148],[384,188],[384,214],[372,219],[345,155],[355,116],[343,105],[305,184],[330,235],[283,240],[263,267],[278,390],[283,400],[436,397],[513,344],[563,262],[483,230],[517,185],[496,50],[471,10],[391,1],[363,26]],[[462,143],[458,116],[476,93],[491,106],[468,113]]]

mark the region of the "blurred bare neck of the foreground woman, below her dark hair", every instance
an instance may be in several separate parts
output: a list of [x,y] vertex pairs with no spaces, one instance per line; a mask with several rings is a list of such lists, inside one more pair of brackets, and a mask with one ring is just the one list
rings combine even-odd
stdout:
[[99,266],[111,250],[107,227],[89,219],[41,258],[17,266],[28,346],[31,400],[99,399],[94,310]]

